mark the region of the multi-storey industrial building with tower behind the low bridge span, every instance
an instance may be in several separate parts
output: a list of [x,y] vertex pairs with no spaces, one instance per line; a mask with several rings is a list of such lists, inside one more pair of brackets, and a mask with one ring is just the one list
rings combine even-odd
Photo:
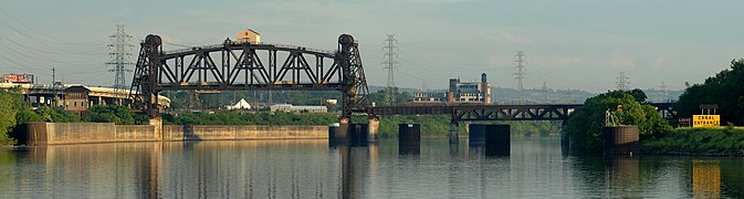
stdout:
[[485,73],[481,74],[481,82],[450,78],[449,90],[444,93],[416,92],[411,105],[463,103],[491,104],[491,84]]

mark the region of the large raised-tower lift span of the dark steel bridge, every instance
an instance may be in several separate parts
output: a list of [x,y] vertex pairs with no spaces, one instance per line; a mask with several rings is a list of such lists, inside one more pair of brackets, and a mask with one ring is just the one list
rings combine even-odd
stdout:
[[358,44],[348,34],[336,51],[230,40],[176,51],[161,44],[158,35],[145,39],[132,83],[135,105],[151,117],[158,114],[151,98],[164,90],[339,91],[342,116],[366,113],[370,104]]

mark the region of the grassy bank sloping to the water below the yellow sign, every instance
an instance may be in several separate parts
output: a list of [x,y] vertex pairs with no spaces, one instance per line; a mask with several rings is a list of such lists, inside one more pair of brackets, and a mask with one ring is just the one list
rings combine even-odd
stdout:
[[744,156],[744,128],[677,128],[641,142],[643,154]]

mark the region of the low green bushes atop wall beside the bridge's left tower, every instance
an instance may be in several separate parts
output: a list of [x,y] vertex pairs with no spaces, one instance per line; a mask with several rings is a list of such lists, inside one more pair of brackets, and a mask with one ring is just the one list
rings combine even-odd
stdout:
[[134,111],[127,106],[96,105],[88,108],[86,121],[94,123],[115,123],[118,125],[143,124],[142,116],[138,118],[139,119],[137,121],[135,119]]

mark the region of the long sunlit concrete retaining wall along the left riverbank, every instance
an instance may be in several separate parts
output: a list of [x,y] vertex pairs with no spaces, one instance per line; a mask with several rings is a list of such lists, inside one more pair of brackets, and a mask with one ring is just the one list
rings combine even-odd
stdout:
[[[29,123],[27,145],[63,145],[116,142],[235,140],[235,139],[327,139],[327,126],[230,126],[163,125],[163,135],[153,125],[113,123]],[[21,140],[21,139],[19,139]]]

